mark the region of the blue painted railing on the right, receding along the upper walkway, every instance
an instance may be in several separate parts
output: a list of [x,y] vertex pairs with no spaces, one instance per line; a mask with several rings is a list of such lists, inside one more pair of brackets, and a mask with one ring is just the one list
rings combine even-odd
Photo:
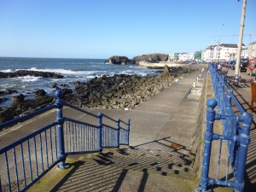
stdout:
[[[215,92],[215,98],[207,101],[207,128],[205,133],[205,148],[203,154],[203,166],[201,171],[200,187],[197,191],[212,191],[212,186],[227,186],[234,188],[236,192],[244,190],[244,174],[247,160],[247,148],[250,143],[250,126],[253,122],[253,115],[245,113],[241,104],[236,100],[232,90],[225,83],[225,76],[218,73],[214,65],[209,66],[212,77],[212,86]],[[232,104],[238,108],[238,112],[233,111]],[[218,113],[215,108],[218,108]],[[219,135],[213,132],[213,124],[215,120],[222,120],[223,134]],[[217,177],[209,177],[209,167],[211,158],[212,141],[219,140]],[[229,153],[222,153],[222,144],[226,142]],[[221,154],[228,155],[225,170],[225,177],[219,178]],[[214,166],[214,165],[212,165]],[[229,171],[229,167],[232,171]],[[231,174],[233,180],[229,179]]]

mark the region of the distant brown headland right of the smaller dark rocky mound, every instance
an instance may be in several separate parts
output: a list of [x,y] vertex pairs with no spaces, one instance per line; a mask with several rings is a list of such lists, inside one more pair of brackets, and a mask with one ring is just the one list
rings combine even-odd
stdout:
[[133,61],[138,65],[139,61],[147,61],[147,62],[159,62],[159,61],[167,61],[167,54],[148,54],[148,55],[139,55],[133,57]]

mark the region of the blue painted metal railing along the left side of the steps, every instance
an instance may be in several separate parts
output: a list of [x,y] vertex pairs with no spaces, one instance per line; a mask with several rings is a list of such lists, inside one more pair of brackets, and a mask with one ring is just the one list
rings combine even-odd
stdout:
[[[61,90],[55,92],[55,103],[48,108],[27,114],[0,125],[0,129],[57,109],[55,122],[32,132],[15,143],[0,148],[0,192],[25,191],[46,172],[58,164],[67,168],[68,154],[101,152],[102,148],[118,148],[129,144],[128,122],[112,119],[104,113],[90,113],[61,99]],[[63,106],[87,113],[96,119],[96,125],[63,116]],[[103,122],[108,122],[108,125]]]

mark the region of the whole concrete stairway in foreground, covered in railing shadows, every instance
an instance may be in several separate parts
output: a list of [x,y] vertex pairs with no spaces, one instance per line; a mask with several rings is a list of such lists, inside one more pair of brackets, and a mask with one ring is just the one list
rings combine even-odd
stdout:
[[195,191],[198,179],[181,154],[148,148],[107,148],[69,156],[73,169],[51,191]]

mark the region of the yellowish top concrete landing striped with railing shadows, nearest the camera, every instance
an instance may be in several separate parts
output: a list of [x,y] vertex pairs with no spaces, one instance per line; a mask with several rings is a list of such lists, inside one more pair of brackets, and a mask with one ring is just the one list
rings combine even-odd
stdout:
[[87,158],[84,155],[74,155],[72,159],[69,157],[67,161],[72,167],[68,172],[54,168],[28,191],[191,192],[195,191],[198,183],[197,180],[166,177],[156,171],[129,170],[117,163],[102,165],[93,160],[96,155],[88,154]]

